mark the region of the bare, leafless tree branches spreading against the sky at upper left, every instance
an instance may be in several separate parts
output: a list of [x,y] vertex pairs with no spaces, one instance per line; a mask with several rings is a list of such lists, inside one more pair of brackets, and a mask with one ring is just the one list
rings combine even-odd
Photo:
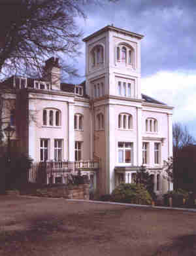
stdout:
[[76,18],[86,18],[89,4],[116,0],[1,0],[0,2],[0,73],[42,75],[42,63],[51,56],[63,56],[66,73],[76,74],[67,65],[78,56],[82,32]]

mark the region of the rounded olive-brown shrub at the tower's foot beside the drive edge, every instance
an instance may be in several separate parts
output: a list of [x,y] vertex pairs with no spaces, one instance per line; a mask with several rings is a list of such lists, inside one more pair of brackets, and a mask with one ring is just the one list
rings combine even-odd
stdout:
[[152,204],[152,197],[142,184],[121,184],[112,191],[114,202]]

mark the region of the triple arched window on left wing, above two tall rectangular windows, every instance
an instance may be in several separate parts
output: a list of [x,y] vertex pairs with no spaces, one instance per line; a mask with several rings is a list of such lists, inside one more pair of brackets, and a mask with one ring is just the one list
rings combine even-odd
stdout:
[[44,126],[61,126],[61,111],[58,109],[43,109],[42,124]]

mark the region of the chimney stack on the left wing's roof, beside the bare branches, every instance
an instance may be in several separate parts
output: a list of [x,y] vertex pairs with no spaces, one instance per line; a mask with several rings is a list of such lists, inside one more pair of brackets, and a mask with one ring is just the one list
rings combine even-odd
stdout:
[[44,80],[51,82],[52,90],[61,90],[59,58],[51,57],[46,60],[44,67]]

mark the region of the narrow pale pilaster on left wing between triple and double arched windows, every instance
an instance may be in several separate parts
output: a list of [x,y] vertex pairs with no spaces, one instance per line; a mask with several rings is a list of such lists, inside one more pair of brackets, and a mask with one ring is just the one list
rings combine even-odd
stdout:
[[74,162],[74,103],[68,103],[68,160]]

